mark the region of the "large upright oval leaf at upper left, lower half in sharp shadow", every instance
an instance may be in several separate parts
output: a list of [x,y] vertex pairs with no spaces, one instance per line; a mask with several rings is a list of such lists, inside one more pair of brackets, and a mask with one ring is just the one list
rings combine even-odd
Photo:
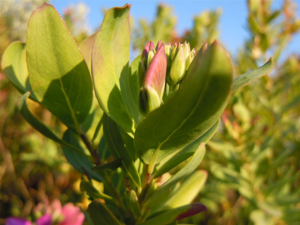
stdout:
[[80,133],[91,108],[93,85],[79,48],[55,8],[44,3],[27,27],[27,67],[42,106]]

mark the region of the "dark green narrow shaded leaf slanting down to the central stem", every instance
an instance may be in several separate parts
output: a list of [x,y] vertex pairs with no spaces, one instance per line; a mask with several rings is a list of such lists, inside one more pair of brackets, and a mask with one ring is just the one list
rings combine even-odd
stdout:
[[141,180],[134,161],[126,148],[118,127],[106,114],[103,118],[104,137],[114,158],[122,158],[123,170],[131,178],[137,187],[141,186]]

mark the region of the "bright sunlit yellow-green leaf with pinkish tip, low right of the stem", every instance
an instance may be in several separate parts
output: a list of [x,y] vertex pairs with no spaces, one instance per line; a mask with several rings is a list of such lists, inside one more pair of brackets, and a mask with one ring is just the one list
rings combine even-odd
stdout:
[[205,184],[207,171],[196,170],[188,176],[159,210],[180,207],[189,204],[198,195]]

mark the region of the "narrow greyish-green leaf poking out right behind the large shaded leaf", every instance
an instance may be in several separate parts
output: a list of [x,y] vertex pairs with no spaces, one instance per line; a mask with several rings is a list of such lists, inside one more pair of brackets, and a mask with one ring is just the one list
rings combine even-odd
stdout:
[[261,67],[258,67],[255,70],[249,71],[247,73],[242,74],[241,76],[237,76],[233,79],[231,92],[238,90],[241,87],[244,87],[248,83],[256,80],[262,76],[265,76],[269,73],[274,67],[274,62],[272,57]]

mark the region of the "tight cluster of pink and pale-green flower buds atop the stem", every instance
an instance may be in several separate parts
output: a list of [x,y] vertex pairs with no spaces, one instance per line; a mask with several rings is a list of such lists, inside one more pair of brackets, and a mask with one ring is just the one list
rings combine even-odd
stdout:
[[148,42],[138,68],[139,109],[143,115],[161,105],[166,80],[170,86],[179,84],[195,54],[196,50],[190,50],[186,41],[174,45],[158,41],[156,47]]

